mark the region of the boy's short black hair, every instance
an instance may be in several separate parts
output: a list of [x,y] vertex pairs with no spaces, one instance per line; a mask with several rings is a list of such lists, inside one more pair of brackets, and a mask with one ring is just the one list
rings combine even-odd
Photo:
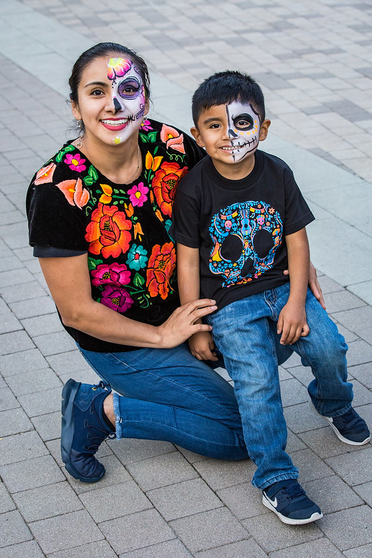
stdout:
[[193,121],[198,126],[202,110],[234,101],[251,103],[261,122],[265,120],[265,99],[258,83],[246,73],[228,70],[217,72],[204,80],[193,94]]

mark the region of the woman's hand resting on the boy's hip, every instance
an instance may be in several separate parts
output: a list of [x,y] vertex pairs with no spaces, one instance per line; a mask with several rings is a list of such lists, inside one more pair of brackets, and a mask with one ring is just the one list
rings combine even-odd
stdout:
[[198,321],[216,309],[216,301],[210,298],[193,300],[193,302],[187,302],[175,309],[168,320],[158,326],[158,332],[161,335],[159,347],[176,347],[194,333],[211,331],[211,325],[198,323]]

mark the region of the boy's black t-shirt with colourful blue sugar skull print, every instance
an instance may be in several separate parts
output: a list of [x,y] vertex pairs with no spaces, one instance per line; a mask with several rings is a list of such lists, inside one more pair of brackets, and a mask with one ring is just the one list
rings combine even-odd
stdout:
[[200,249],[200,297],[222,308],[286,283],[284,237],[313,219],[292,170],[258,150],[251,174],[239,180],[202,159],[179,184],[171,233]]

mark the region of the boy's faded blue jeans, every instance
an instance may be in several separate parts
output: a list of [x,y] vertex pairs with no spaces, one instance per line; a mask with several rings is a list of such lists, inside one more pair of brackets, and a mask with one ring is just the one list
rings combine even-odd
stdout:
[[[237,300],[207,316],[214,342],[235,382],[235,395],[248,455],[257,465],[253,485],[265,487],[297,478],[298,469],[285,452],[287,427],[283,415],[276,347],[276,323],[288,300],[289,284]],[[288,345],[315,376],[308,393],[318,413],[340,416],[350,409],[352,385],[345,339],[308,290],[306,317],[310,333]]]

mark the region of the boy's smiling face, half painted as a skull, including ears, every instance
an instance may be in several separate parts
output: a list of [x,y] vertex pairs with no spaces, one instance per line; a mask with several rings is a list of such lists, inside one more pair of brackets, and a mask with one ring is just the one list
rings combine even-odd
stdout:
[[250,103],[234,101],[203,110],[198,128],[191,133],[214,162],[234,164],[251,159],[258,142],[265,140],[269,124],[269,120],[260,122]]

